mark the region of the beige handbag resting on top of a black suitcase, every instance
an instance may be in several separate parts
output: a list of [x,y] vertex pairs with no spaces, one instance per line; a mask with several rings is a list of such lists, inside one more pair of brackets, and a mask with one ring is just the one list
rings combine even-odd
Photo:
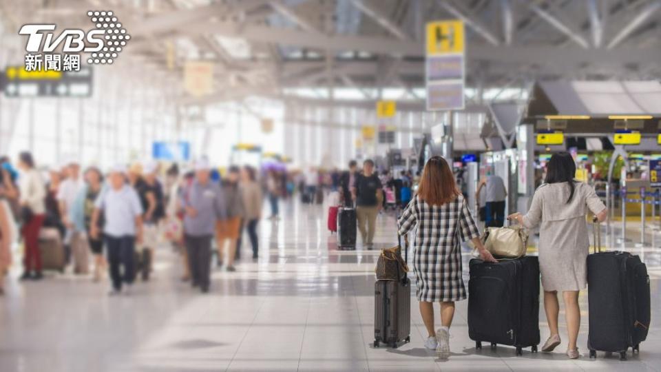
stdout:
[[521,226],[489,227],[482,236],[487,251],[496,258],[525,256],[528,233]]

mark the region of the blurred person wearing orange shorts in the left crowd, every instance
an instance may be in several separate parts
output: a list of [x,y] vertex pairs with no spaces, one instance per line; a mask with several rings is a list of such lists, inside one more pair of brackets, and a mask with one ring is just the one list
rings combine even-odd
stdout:
[[[273,175],[272,177],[273,178]],[[234,254],[239,238],[241,216],[244,214],[243,198],[239,190],[239,167],[231,166],[227,179],[222,185],[225,198],[225,213],[216,225],[216,244],[218,245],[218,266],[222,266],[224,247],[227,242],[227,271],[236,271]]]

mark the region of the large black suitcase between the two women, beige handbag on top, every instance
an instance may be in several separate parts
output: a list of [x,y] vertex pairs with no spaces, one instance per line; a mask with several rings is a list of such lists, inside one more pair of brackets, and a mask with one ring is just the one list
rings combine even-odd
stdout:
[[536,256],[498,263],[469,262],[468,335],[482,342],[524,347],[537,352],[539,344],[539,261]]

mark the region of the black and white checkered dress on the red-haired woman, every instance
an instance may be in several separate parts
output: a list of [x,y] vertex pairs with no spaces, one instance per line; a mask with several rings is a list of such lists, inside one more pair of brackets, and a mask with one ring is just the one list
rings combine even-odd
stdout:
[[400,235],[417,226],[413,269],[418,300],[465,300],[460,243],[478,238],[480,231],[463,196],[441,206],[429,205],[416,196],[404,209],[398,225]]

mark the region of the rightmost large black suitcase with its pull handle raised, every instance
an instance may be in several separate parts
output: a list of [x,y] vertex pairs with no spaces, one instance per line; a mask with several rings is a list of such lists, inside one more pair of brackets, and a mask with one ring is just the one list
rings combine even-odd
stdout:
[[649,276],[640,257],[623,251],[601,251],[601,231],[595,223],[595,254],[587,256],[587,294],[590,358],[597,351],[620,353],[640,351],[651,320]]

